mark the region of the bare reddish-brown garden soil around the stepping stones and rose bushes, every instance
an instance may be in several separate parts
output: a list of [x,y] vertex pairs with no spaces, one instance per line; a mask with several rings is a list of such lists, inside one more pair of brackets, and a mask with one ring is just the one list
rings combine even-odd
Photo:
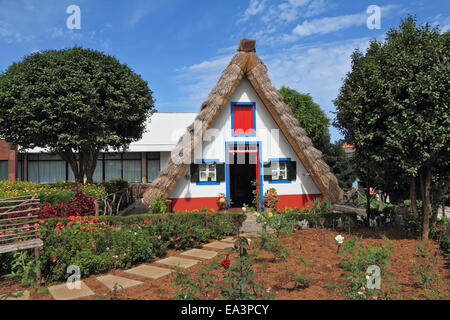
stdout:
[[[332,229],[304,229],[294,232],[291,236],[282,237],[281,240],[286,248],[290,251],[290,256],[281,262],[275,262],[274,256],[271,253],[263,253],[259,256],[261,260],[266,262],[265,266],[255,264],[255,273],[257,281],[265,281],[266,287],[270,287],[272,292],[275,292],[275,299],[287,300],[341,300],[344,299],[343,289],[326,289],[325,284],[338,284],[341,288],[345,287],[345,280],[341,277],[343,269],[339,267],[339,262],[342,256],[336,255],[337,246],[334,242],[334,237],[337,234],[342,234],[345,239],[352,236],[359,235],[364,237],[363,243],[372,246],[380,246],[383,243],[381,239],[382,234],[385,234],[392,242],[393,254],[391,255],[391,266],[388,271],[393,273],[394,285],[398,289],[395,296],[390,296],[392,299],[429,299],[425,295],[425,291],[420,288],[419,283],[414,275],[412,275],[413,263],[410,261],[414,257],[416,245],[420,243],[413,239],[400,239],[397,234],[390,229],[383,231],[377,230],[361,230],[352,234],[346,232],[338,232]],[[436,253],[438,246],[435,242],[431,242],[433,254]],[[225,251],[222,251],[225,252]],[[168,256],[179,255],[181,251],[171,250]],[[308,260],[313,260],[313,263],[306,267],[306,274],[312,277],[310,287],[303,290],[294,289],[293,283],[289,279],[287,271],[293,273],[304,273],[304,266],[298,261],[297,254],[301,254]],[[231,257],[232,259],[233,257]],[[449,266],[446,265],[447,260],[437,255],[437,262],[435,264],[435,272],[439,274],[443,280],[442,293],[450,297],[449,291]],[[158,266],[158,264],[156,264]],[[159,265],[161,266],[161,265]],[[219,267],[217,272],[220,272]],[[191,276],[196,276],[200,270],[200,266],[194,266],[186,271]],[[173,284],[176,275],[171,274],[157,280],[146,279],[136,276],[131,276],[124,273],[122,270],[113,270],[108,274],[132,278],[143,281],[141,286],[119,290],[117,297],[119,299],[148,299],[148,300],[166,300],[174,299],[174,292],[177,287]],[[83,279],[86,285],[95,292],[97,297],[103,297],[108,294],[109,290],[101,284],[96,277],[99,275],[90,276]],[[15,292],[23,290],[17,283],[7,283],[7,281],[0,282],[0,294],[7,292]],[[31,291],[31,298],[38,300],[52,299],[49,294],[37,294],[34,289]],[[218,298],[213,296],[212,298]],[[89,297],[86,299],[93,299]]]

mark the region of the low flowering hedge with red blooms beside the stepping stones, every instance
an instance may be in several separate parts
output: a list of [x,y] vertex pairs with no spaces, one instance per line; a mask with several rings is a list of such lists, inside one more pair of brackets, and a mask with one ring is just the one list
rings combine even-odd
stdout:
[[[242,213],[171,213],[45,219],[40,221],[42,276],[52,283],[66,280],[70,265],[78,266],[84,278],[151,262],[168,248],[184,250],[232,235],[234,222],[245,218]],[[2,274],[11,271],[12,256],[0,256]]]

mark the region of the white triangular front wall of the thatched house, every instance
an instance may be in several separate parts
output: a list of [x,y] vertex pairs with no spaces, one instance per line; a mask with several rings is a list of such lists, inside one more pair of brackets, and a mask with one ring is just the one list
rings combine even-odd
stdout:
[[[231,130],[231,102],[255,102],[256,103],[256,136],[255,137],[233,137]],[[218,159],[225,162],[225,142],[245,142],[260,141],[260,152],[262,162],[269,161],[270,158],[291,158],[297,162],[297,178],[291,183],[269,183],[264,181],[263,191],[274,187],[279,195],[306,195],[320,194],[318,188],[307,175],[301,161],[292,150],[286,138],[278,129],[272,116],[253,90],[250,82],[243,79],[236,88],[232,98],[227,102],[224,110],[219,115],[212,130],[204,136],[202,150],[195,150],[195,159]],[[187,166],[186,173],[189,173]],[[217,197],[218,193],[226,192],[226,181],[219,185],[197,185],[182,177],[169,198],[204,198]]]

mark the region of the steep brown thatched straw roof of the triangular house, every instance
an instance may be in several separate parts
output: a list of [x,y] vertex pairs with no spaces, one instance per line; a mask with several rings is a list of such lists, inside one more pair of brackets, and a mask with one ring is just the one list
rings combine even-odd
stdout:
[[[255,40],[241,39],[236,54],[222,72],[208,98],[202,103],[194,123],[186,129],[185,135],[180,138],[172,150],[172,157],[166,168],[161,170],[159,176],[145,192],[144,202],[147,205],[150,205],[158,195],[162,195],[164,198],[168,197],[188,166],[186,161],[183,161],[185,163],[175,163],[172,159],[176,157],[173,156],[193,159],[194,150],[202,143],[203,138],[194,136],[194,131],[195,135],[201,135],[201,132],[205,133],[211,128],[244,77],[253,86],[320,193],[331,201],[342,198],[343,191],[339,188],[337,179],[331,173],[328,165],[322,160],[322,153],[313,147],[311,139],[306,136],[305,130],[293,117],[291,109],[284,103],[277,89],[272,86],[267,74],[267,67],[255,53]],[[194,130],[194,127],[202,130]],[[183,141],[190,141],[190,143],[183,143]]]

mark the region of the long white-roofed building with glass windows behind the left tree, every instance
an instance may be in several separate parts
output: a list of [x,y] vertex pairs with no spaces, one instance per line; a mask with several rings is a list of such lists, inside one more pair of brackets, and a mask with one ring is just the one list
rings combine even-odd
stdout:
[[[142,139],[130,144],[124,152],[108,150],[99,154],[94,182],[124,179],[147,183],[155,179],[170,157],[186,127],[197,113],[158,112],[147,122]],[[70,165],[46,149],[19,151],[18,179],[38,183],[74,180]]]

